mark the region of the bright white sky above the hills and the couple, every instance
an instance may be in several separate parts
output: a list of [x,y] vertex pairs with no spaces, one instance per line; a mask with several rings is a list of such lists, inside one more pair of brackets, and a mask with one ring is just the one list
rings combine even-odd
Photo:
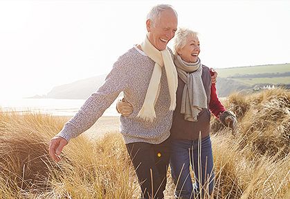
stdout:
[[290,1],[0,0],[0,98],[109,73],[144,40],[147,12],[158,3],[199,33],[208,67],[290,62]]

